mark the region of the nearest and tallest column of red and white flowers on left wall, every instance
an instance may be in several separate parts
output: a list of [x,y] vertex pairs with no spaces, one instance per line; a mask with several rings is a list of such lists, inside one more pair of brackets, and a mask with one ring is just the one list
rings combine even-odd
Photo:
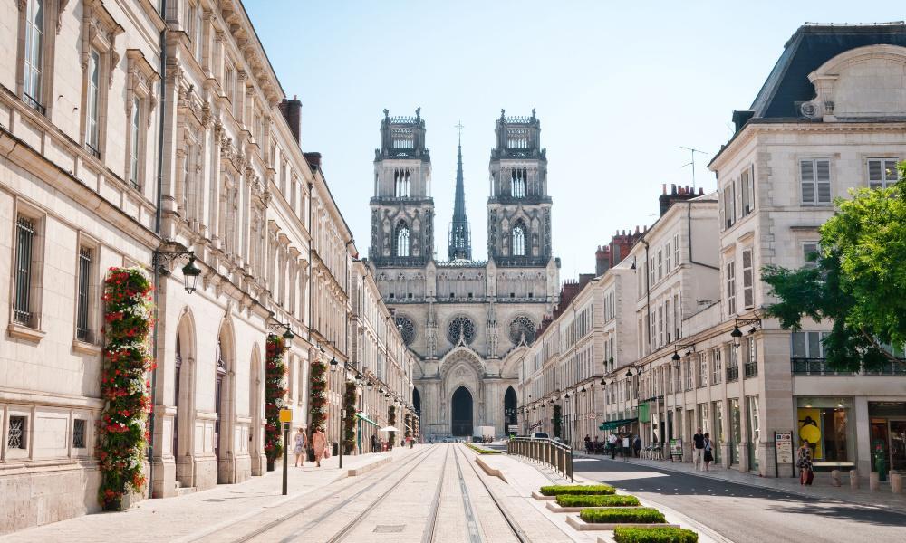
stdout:
[[140,268],[113,267],[104,280],[105,338],[101,370],[104,409],[98,422],[101,470],[98,501],[123,510],[128,492],[145,486],[146,421],[151,409],[148,372],[153,371],[148,336],[152,326],[151,283]]

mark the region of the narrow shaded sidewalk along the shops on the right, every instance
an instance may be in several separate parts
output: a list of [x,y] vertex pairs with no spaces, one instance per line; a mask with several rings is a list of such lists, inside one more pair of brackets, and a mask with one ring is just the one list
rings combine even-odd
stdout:
[[[581,458],[593,458],[606,462],[623,462],[619,456],[612,461],[607,455],[586,454],[584,452],[573,451],[573,456]],[[842,486],[831,486],[830,473],[815,473],[814,483],[810,487],[804,487],[799,484],[798,477],[760,477],[752,473],[738,472],[737,470],[726,469],[721,466],[711,466],[709,472],[699,472],[691,462],[670,462],[666,460],[642,460],[641,458],[631,458],[630,463],[647,466],[664,470],[666,472],[687,473],[689,475],[698,475],[708,479],[718,481],[735,482],[751,487],[781,491],[805,498],[814,498],[815,500],[842,500],[849,501],[858,505],[867,505],[872,507],[881,507],[890,510],[906,511],[906,494],[893,494],[890,485],[882,485],[880,491],[870,491],[868,481],[861,481],[862,486],[858,490],[853,490],[849,485],[849,477],[841,473],[840,481]]]

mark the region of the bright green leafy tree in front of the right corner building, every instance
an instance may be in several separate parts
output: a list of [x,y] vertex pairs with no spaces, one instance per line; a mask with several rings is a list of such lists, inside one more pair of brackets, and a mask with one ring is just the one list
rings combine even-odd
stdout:
[[821,226],[814,266],[769,265],[762,280],[780,301],[766,309],[784,329],[803,317],[831,319],[824,338],[828,365],[876,369],[897,361],[885,346],[906,343],[906,162],[889,188],[855,188],[834,201],[837,213]]

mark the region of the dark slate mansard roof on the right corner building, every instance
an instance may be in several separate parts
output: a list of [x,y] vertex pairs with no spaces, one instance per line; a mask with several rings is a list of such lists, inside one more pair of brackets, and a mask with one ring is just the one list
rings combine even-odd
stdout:
[[754,118],[798,118],[795,102],[814,98],[808,74],[841,52],[865,45],[906,47],[906,24],[814,24],[799,27],[752,102]]

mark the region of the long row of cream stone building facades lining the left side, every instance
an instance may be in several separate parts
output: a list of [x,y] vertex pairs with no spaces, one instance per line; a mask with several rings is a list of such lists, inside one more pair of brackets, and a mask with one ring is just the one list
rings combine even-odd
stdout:
[[[156,282],[153,497],[265,472],[269,333],[294,333],[286,399],[298,425],[311,362],[354,361],[357,250],[320,155],[300,148],[300,102],[238,0],[155,5],[0,6],[14,52],[0,61],[0,532],[99,509],[111,266]],[[395,327],[385,336],[401,343]],[[334,440],[343,381],[331,381]],[[382,386],[410,406],[403,372]]]

